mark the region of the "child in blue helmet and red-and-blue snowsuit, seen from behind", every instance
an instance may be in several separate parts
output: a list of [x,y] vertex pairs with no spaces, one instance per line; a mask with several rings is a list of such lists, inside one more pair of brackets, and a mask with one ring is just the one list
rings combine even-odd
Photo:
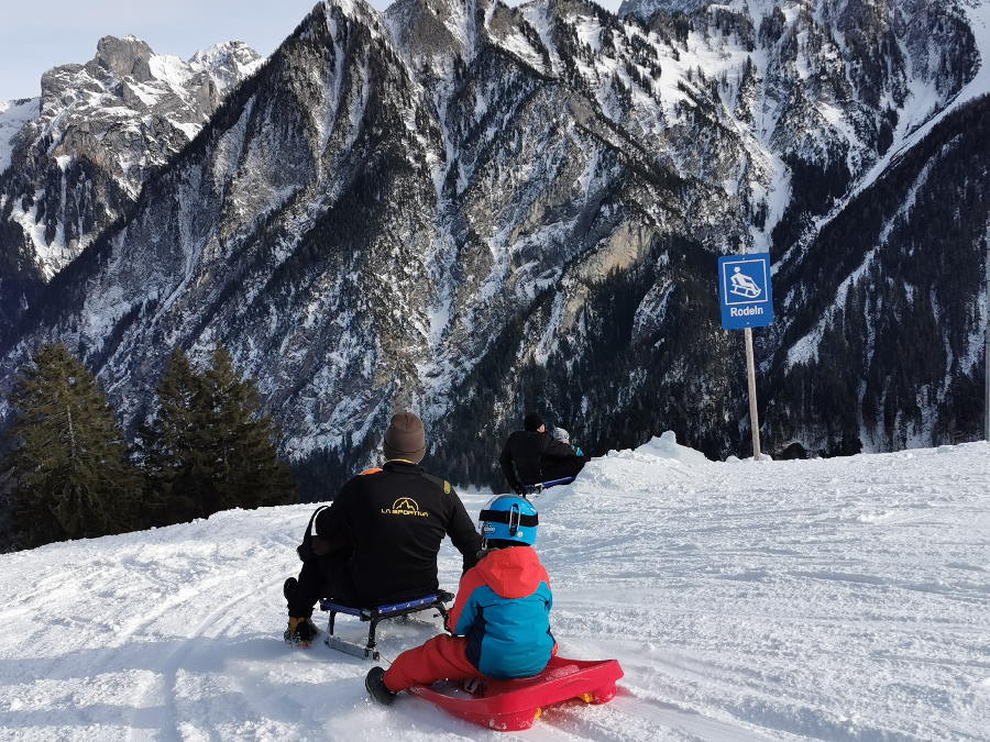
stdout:
[[448,629],[426,644],[403,652],[387,672],[373,667],[365,686],[375,700],[436,680],[529,677],[547,667],[557,651],[550,633],[550,578],[532,544],[537,511],[512,495],[482,510],[486,552],[464,573]]

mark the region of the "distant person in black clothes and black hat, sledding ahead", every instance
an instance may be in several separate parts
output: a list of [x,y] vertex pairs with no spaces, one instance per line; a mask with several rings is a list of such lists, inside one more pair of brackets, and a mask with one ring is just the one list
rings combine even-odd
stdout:
[[539,414],[530,412],[522,421],[522,430],[508,436],[498,463],[516,494],[544,481],[576,477],[584,468],[588,457],[571,446],[566,431],[556,430],[560,431],[559,438],[547,431]]

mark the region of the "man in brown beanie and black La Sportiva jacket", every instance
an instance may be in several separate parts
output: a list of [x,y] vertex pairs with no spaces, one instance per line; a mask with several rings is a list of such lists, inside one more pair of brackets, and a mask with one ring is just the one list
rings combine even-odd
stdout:
[[463,555],[465,571],[477,563],[482,540],[464,503],[450,483],[419,466],[422,421],[411,412],[394,416],[382,447],[382,468],[352,477],[309,521],[298,549],[302,569],[285,582],[288,643],[309,646],[320,598],[372,607],[436,593],[444,535]]

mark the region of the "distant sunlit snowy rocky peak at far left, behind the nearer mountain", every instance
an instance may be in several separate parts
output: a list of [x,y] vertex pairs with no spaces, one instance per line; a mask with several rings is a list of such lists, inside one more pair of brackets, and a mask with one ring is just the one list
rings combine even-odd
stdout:
[[242,42],[184,62],[134,36],[105,36],[85,65],[45,73],[40,98],[0,102],[4,330],[260,64]]

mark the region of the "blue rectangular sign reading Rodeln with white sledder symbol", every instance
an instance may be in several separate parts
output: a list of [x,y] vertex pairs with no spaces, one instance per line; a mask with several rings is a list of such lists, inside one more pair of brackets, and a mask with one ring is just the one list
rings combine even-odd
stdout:
[[770,253],[718,258],[718,299],[725,330],[766,328],[773,323]]

